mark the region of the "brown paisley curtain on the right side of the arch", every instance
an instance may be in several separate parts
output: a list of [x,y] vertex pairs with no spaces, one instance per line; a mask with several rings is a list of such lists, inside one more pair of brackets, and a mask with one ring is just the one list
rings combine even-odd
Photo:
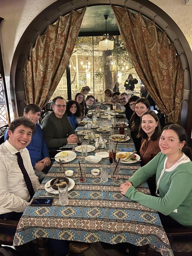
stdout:
[[155,22],[111,5],[125,48],[140,79],[167,121],[179,123],[184,71],[167,35]]

